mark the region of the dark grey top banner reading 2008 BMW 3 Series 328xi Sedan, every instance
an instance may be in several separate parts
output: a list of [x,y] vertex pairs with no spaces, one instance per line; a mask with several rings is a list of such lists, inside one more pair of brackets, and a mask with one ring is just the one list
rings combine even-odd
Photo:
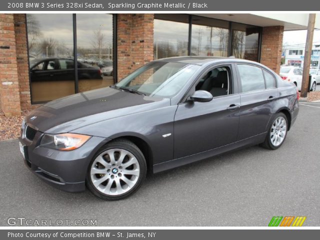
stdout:
[[314,0],[2,0],[0,11],[318,11]]

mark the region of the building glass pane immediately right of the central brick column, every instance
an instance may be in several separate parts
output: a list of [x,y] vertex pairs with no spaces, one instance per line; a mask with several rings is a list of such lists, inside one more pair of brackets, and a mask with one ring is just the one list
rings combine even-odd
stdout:
[[188,54],[188,15],[154,14],[154,59]]

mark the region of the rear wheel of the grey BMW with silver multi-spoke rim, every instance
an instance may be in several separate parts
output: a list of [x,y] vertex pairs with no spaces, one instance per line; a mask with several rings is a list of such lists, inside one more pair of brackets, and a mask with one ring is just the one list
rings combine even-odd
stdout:
[[[279,121],[282,122],[282,125]],[[277,125],[278,123],[279,125]],[[265,140],[261,146],[271,150],[279,148],[285,140],[287,126],[288,120],[285,114],[282,112],[276,113],[271,120],[268,133],[266,134]]]

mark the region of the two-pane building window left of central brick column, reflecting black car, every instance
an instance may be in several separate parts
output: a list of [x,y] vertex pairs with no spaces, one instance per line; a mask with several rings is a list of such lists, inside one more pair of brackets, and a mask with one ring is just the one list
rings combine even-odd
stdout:
[[72,14],[26,14],[32,103],[113,84],[112,15],[76,14],[77,79]]

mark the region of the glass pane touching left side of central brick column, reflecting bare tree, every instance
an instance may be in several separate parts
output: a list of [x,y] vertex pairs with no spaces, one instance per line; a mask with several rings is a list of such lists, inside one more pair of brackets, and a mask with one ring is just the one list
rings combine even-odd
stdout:
[[79,91],[113,84],[112,15],[76,14]]

